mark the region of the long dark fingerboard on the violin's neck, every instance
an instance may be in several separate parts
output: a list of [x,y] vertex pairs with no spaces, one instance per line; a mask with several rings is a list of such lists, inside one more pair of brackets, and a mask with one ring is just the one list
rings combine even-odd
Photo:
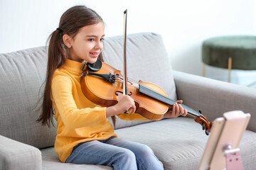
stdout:
[[[154,90],[151,90],[149,88],[147,88],[146,86],[139,84],[139,92],[142,94],[145,94],[146,96],[149,96],[151,98],[156,99],[157,101],[161,101],[167,105],[173,106],[174,103],[177,103],[174,100],[171,100],[171,98],[168,98],[164,95],[161,95],[159,93],[157,93]],[[198,113],[198,111],[195,111],[193,108],[189,108],[186,105],[181,104],[181,106],[188,111],[188,113],[190,113],[189,115],[192,115],[194,117],[200,117],[200,113]]]

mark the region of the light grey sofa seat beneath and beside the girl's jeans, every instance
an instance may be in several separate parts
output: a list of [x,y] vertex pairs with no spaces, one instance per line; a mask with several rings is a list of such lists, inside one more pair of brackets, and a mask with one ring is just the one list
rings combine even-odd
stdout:
[[[177,132],[178,131],[178,132]],[[141,142],[153,149],[156,157],[164,164],[164,169],[198,169],[203,149],[208,137],[201,125],[193,118],[169,118],[151,123],[135,125],[116,130],[121,138]],[[246,130],[241,141],[241,157],[245,169],[248,162],[253,162],[256,152],[256,133]],[[53,147],[41,149],[43,169],[112,169],[109,166],[63,164],[59,161]],[[53,161],[54,160],[54,161]],[[256,162],[255,162],[256,166]]]

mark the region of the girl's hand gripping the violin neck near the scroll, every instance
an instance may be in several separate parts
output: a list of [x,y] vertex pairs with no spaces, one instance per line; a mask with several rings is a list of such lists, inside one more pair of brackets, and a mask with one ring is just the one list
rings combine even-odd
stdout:
[[179,115],[186,116],[188,111],[183,109],[181,104],[183,101],[177,101],[178,103],[174,103],[172,110],[168,111],[164,114],[164,118],[177,118]]

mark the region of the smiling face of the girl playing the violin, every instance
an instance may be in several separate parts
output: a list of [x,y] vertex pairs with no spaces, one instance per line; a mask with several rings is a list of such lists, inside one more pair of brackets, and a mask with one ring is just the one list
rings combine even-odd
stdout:
[[103,49],[104,30],[104,23],[102,22],[80,28],[78,34],[69,39],[70,43],[67,46],[70,54],[68,59],[95,63]]

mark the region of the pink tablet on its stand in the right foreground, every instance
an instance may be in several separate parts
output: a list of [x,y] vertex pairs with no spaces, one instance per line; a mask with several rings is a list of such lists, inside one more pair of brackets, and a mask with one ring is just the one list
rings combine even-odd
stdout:
[[250,113],[230,111],[215,119],[198,170],[242,170],[239,143]]

